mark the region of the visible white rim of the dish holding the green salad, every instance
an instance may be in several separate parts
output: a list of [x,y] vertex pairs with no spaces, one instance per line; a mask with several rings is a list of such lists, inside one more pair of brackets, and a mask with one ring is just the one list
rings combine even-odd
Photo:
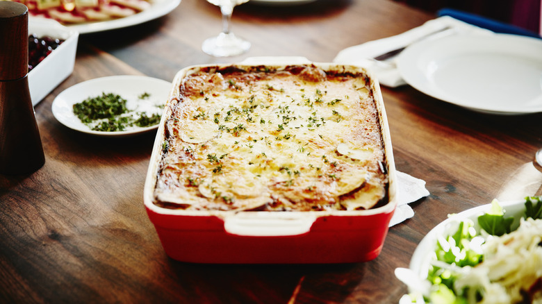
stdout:
[[[519,226],[520,217],[523,217],[525,214],[525,200],[499,202],[499,205],[505,210],[506,217],[514,217],[512,229],[515,230]],[[491,203],[454,214],[452,217],[439,223],[435,228],[429,231],[420,244],[418,244],[410,260],[409,268],[418,276],[418,278],[425,280],[429,271],[429,262],[431,262],[432,255],[434,255],[435,252],[438,236],[446,236],[455,233],[459,227],[459,223],[465,219],[473,221],[475,229],[479,231],[480,228],[477,218],[489,210],[491,210]]]

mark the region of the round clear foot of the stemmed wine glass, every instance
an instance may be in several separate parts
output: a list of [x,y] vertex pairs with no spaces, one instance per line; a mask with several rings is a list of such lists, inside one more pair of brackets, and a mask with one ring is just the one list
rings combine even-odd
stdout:
[[206,39],[202,44],[202,50],[215,57],[237,56],[249,49],[250,42],[236,37],[233,33],[220,33],[217,37]]

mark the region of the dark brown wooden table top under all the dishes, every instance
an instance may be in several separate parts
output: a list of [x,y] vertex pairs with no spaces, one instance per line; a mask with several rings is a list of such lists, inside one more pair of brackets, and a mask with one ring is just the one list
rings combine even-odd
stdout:
[[356,264],[216,265],[167,257],[147,218],[142,191],[154,134],[83,135],[56,121],[51,103],[67,87],[102,76],[172,81],[188,65],[250,56],[327,62],[341,49],[433,17],[384,0],[247,3],[234,10],[233,31],[252,49],[226,59],[200,50],[221,28],[218,8],[204,0],[183,0],[169,15],[138,26],[81,35],[73,74],[35,107],[44,167],[0,176],[0,302],[397,303],[407,287],[393,270],[408,267],[420,239],[447,214],[538,191],[536,174],[532,189],[508,185],[525,178],[542,147],[541,114],[487,115],[409,86],[382,87],[397,170],[426,180],[431,194],[412,204],[412,219],[389,230],[379,257]]

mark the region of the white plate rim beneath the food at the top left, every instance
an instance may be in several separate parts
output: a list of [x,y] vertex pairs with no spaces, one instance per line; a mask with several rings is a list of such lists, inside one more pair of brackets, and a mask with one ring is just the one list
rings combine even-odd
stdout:
[[[179,3],[181,3],[181,0],[154,0],[150,8],[129,17],[111,19],[101,22],[67,24],[65,26],[81,34],[109,31],[115,28],[124,28],[126,26],[142,24],[143,22],[162,17],[163,15],[166,15],[168,12],[171,12],[172,10],[174,10],[174,8],[179,6]],[[42,17],[31,18],[42,19]]]

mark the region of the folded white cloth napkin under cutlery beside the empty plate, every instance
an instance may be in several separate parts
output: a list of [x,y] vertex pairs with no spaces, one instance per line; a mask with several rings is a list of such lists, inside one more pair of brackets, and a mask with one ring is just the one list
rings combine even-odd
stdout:
[[[371,58],[379,56],[388,51],[404,47],[407,44],[410,44],[420,39],[420,37],[429,33],[433,33],[434,31],[438,31],[439,29],[445,28],[446,26],[453,28],[453,30],[451,31],[453,35],[461,33],[479,33],[482,35],[493,33],[484,28],[473,26],[452,17],[443,16],[429,20],[428,22],[425,22],[425,24],[422,24],[417,28],[412,28],[411,30],[401,33],[399,35],[366,42],[364,44],[359,44],[354,47],[348,47],[347,49],[340,51],[333,60],[333,62],[339,64],[359,65],[361,67],[366,67],[366,69],[370,70],[372,74],[375,74],[381,85],[386,85],[387,87],[398,87],[405,84],[399,71],[397,70],[397,66],[395,65],[395,60],[397,60],[399,56],[395,56],[395,58],[390,58],[384,63],[376,62]],[[441,35],[449,34],[449,32],[441,33]],[[439,34],[436,34],[427,39],[436,39],[438,37],[441,36],[439,36]]]

